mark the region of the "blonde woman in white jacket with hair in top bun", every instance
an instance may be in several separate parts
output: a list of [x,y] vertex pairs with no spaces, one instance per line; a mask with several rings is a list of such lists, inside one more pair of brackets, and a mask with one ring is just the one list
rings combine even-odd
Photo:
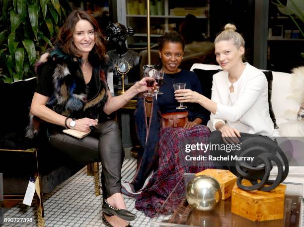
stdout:
[[242,136],[277,136],[269,115],[268,84],[263,72],[243,63],[245,41],[227,24],[215,40],[215,54],[223,71],[213,76],[211,100],[189,89],[175,91],[181,102],[196,102],[211,112],[215,129],[210,142],[238,143]]

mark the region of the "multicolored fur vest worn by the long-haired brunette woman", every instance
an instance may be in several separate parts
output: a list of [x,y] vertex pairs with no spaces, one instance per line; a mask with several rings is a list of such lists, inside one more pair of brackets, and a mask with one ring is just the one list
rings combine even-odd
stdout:
[[[92,118],[104,120],[103,107],[108,99],[106,92],[106,73],[110,61],[107,56],[103,61],[97,61],[95,56],[88,56],[88,61],[93,67],[92,76],[95,77],[97,93],[87,100],[86,85],[80,69],[81,59],[74,58],[57,48],[50,53],[41,56],[36,64],[36,73],[39,77],[43,67],[48,65],[51,69],[54,93],[49,98],[46,106],[56,113],[70,118]],[[30,122],[26,128],[26,137],[35,138],[38,133],[50,137],[61,132],[63,127],[47,123],[30,114]]]

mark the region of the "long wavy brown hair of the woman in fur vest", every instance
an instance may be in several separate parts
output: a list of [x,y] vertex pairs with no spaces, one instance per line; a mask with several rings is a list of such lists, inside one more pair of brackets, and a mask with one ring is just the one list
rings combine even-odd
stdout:
[[91,52],[99,59],[102,60],[106,54],[106,48],[104,45],[104,36],[101,33],[99,25],[94,17],[88,14],[86,11],[82,10],[74,10],[67,17],[66,22],[61,27],[59,34],[57,45],[67,54],[76,56],[81,58],[82,55],[79,53],[75,44],[73,43],[73,33],[75,30],[76,23],[79,20],[87,20],[91,23],[94,28],[94,36],[95,36],[95,45]]

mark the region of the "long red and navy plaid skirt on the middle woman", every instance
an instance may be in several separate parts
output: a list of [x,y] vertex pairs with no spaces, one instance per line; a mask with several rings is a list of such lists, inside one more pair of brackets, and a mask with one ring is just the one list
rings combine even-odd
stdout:
[[[204,125],[191,129],[161,128],[159,131],[159,164],[148,185],[135,201],[135,208],[153,217],[184,173],[213,168],[210,161],[190,161],[189,156],[208,155],[200,149],[189,151],[189,145],[207,144],[210,130]],[[186,157],[187,156],[187,157]],[[187,160],[188,159],[188,160]]]

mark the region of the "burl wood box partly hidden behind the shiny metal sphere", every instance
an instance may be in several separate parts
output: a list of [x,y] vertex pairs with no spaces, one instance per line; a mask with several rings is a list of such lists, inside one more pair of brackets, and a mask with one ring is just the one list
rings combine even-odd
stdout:
[[227,199],[231,196],[232,188],[237,179],[233,173],[225,169],[205,169],[196,175],[209,175],[219,181],[222,190],[222,199]]

